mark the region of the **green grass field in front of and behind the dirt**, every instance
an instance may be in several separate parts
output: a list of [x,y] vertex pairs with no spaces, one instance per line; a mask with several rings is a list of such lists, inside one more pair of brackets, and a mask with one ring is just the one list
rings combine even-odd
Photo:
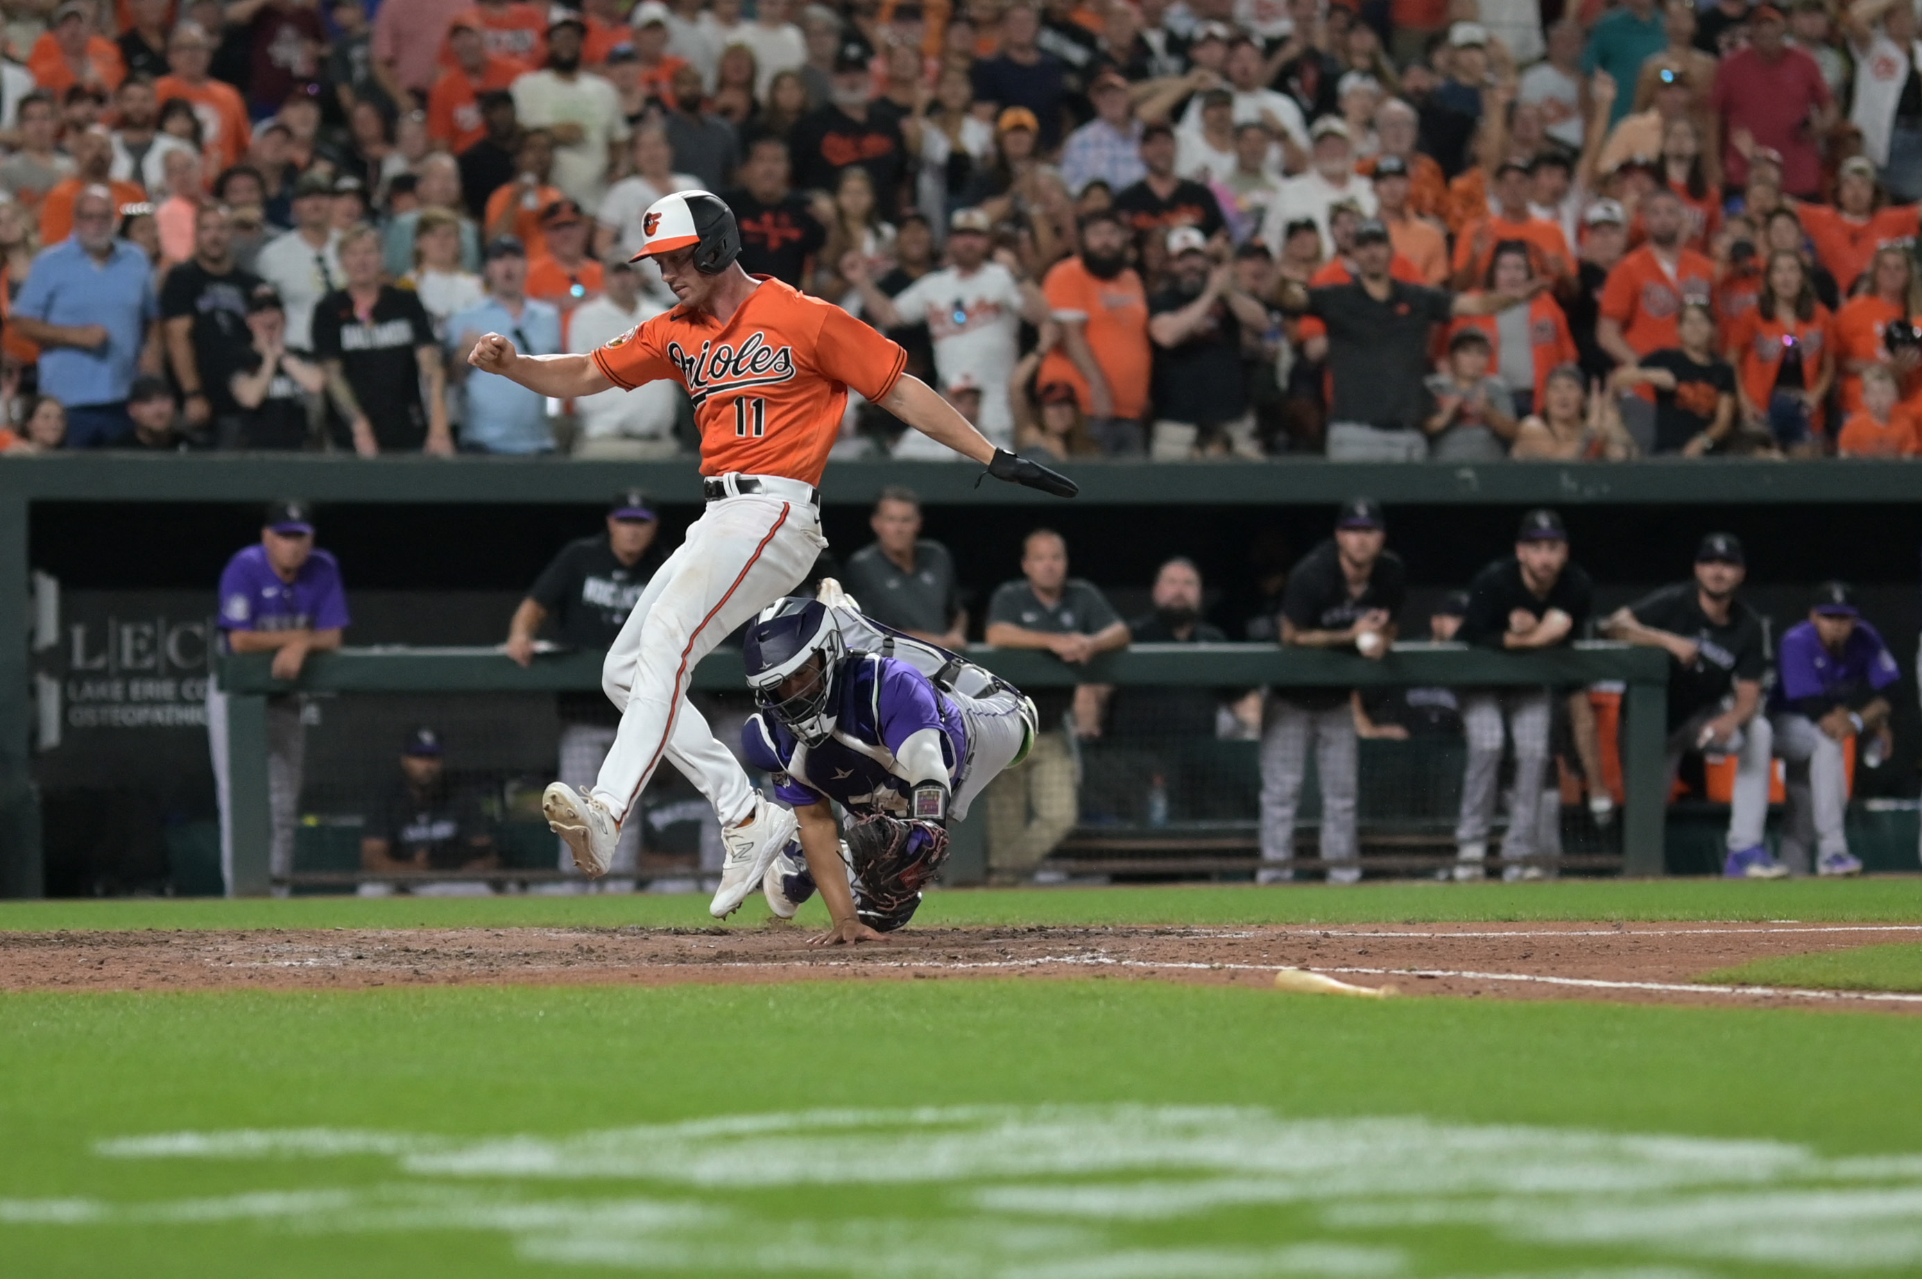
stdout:
[[[942,892],[928,917],[1922,923],[1922,881]],[[696,921],[696,898],[0,908]],[[1912,1016],[1130,981],[10,994],[0,1275],[1912,1275],[1918,1062]]]

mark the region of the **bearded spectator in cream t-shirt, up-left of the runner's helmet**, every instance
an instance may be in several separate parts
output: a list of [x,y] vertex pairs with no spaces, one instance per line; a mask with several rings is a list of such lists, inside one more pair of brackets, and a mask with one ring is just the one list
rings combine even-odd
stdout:
[[513,81],[513,110],[523,127],[554,135],[554,185],[594,213],[628,138],[627,113],[621,90],[580,71],[584,21],[573,10],[557,13],[548,25],[548,65]]

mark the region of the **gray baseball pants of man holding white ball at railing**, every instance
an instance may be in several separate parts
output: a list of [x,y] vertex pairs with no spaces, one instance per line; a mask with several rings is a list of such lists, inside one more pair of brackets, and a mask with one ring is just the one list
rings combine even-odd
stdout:
[[1295,856],[1295,810],[1315,742],[1320,779],[1322,862],[1357,864],[1355,840],[1355,712],[1343,696],[1326,710],[1270,696],[1261,731],[1261,862],[1278,869]]

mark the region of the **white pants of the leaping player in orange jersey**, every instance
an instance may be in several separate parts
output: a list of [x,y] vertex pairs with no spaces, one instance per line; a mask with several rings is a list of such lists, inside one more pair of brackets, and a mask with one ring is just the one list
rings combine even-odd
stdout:
[[663,758],[707,796],[723,825],[748,815],[748,773],[688,704],[688,683],[723,639],[792,592],[826,544],[811,504],[763,494],[709,502],[688,527],[602,665],[602,689],[621,708],[621,729],[594,796],[617,819]]

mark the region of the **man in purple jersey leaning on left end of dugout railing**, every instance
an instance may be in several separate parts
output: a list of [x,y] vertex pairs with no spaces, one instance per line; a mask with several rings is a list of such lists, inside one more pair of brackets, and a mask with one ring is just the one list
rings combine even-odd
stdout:
[[[221,573],[219,650],[271,652],[275,679],[300,679],[309,652],[340,648],[340,631],[348,621],[340,565],[313,546],[313,510],[306,502],[275,502],[267,508],[259,542],[229,560]],[[267,810],[273,819],[267,865],[279,896],[286,894],[284,879],[294,869],[294,819],[306,758],[300,706],[300,694],[267,700]],[[221,875],[233,896],[227,694],[215,681],[208,681],[208,744],[221,806]]]

